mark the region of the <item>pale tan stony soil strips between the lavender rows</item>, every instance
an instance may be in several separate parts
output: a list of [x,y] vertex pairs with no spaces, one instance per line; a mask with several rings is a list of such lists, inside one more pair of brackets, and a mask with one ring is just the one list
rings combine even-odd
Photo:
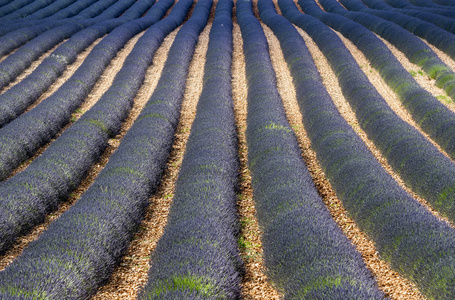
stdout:
[[[202,89],[202,75],[205,62],[204,56],[208,42],[209,28],[210,26],[208,26],[200,36],[200,40],[196,49],[196,55],[193,58],[189,70],[185,99],[182,106],[182,116],[176,132],[173,150],[168,160],[167,169],[163,174],[162,183],[160,184],[156,193],[150,198],[150,206],[147,209],[144,221],[142,222],[138,233],[134,236],[132,244],[128,248],[127,253],[121,260],[114,274],[111,276],[109,282],[107,282],[107,284],[103,286],[94,296],[95,299],[134,299],[139,289],[147,281],[150,254],[155,248],[156,243],[159,240],[159,237],[161,236],[164,226],[167,222],[167,214],[174,193],[174,183],[178,175],[179,167],[185,151],[186,140],[189,136],[191,123],[195,115],[197,100]],[[289,71],[287,70],[287,65],[282,57],[279,43],[266,26],[264,26],[264,29],[269,41],[272,62],[277,72],[278,89],[284,100],[284,106],[288,120],[296,132],[302,150],[302,158],[309,168],[315,185],[324,203],[327,205],[327,208],[332,214],[333,219],[338,224],[338,226],[342,228],[343,232],[351,240],[352,244],[362,254],[367,267],[372,271],[379,287],[386,293],[386,295],[392,299],[425,299],[419,293],[413,283],[404,279],[397,272],[391,270],[387,263],[379,258],[373,242],[369,240],[368,237],[359,230],[353,220],[348,217],[347,212],[343,208],[343,204],[337,198],[330,183],[325,177],[325,174],[319,162],[316,159],[314,151],[311,149],[309,139],[306,136],[301,122],[302,116],[298,109],[295,90],[292,85],[292,79],[290,77]],[[359,134],[359,136],[366,143],[375,157],[381,162],[384,168],[389,172],[389,174],[391,174],[397,180],[397,182],[403,186],[403,188],[407,189],[400,177],[397,176],[397,174],[395,174],[387,164],[386,159],[382,157],[379,151],[374,147],[373,143],[367,138],[366,134],[360,129],[354,113],[341,94],[336,76],[328,66],[326,59],[322,56],[311,38],[309,38],[308,35],[306,35],[306,33],[304,33],[302,30],[298,30],[305,39],[307,46],[309,47],[309,50],[316,62],[318,70],[321,72],[323,83],[327,87],[329,94],[332,96],[342,116],[349,122],[349,124],[351,124],[351,126]],[[144,106],[145,102],[152,94],[163,68],[164,61],[167,57],[167,52],[175,37],[176,32],[177,31],[174,31],[168,38],[166,38],[162,46],[158,49],[154,58],[154,62],[148,69],[145,85],[139,91],[139,94],[135,99],[134,107],[131,110],[128,119],[122,126],[121,133],[109,141],[109,147],[103,153],[100,161],[91,168],[89,175],[84,179],[79,188],[72,193],[70,199],[62,204],[57,212],[48,216],[45,223],[34,228],[33,231],[26,236],[21,237],[20,240],[14,245],[12,250],[8,251],[7,254],[0,257],[0,270],[5,268],[9,262],[11,262],[17,255],[19,255],[22,249],[26,247],[28,242],[36,239],[38,235],[43,232],[45,228],[50,224],[50,222],[60,216],[61,213],[66,211],[73,203],[75,203],[81,194],[94,181],[96,176],[99,174],[99,171],[102,170],[108,161],[109,156],[117,149],[122,137],[131,127],[141,108]],[[124,50],[119,52],[105,73],[103,73],[101,79],[98,81],[88,99],[79,108],[78,112],[73,115],[73,121],[77,120],[83,112],[87,111],[111,85],[115,74],[122,66],[123,60],[126,58],[129,51],[131,51],[134,43],[137,41],[139,36],[140,35],[136,36],[127,46],[125,46]],[[396,98],[395,94],[387,87],[382,79],[379,78],[377,72],[375,70],[372,70],[368,61],[363,57],[363,55],[354,46],[352,46],[352,44],[350,45],[350,42],[347,42],[345,39],[343,39],[343,41],[353,53],[354,57],[358,60],[359,64],[363,66],[362,70],[368,76],[370,81],[373,83],[379,93],[383,95],[383,97],[394,109],[394,111],[396,111],[397,114],[403,118],[403,120],[415,126],[415,123],[412,121],[412,119],[410,119],[409,114],[401,107],[401,104]],[[417,72],[415,78],[419,84],[421,84],[425,89],[433,93],[435,96],[440,95],[440,89],[438,90],[434,88],[434,81],[429,80],[426,75],[418,74],[418,67],[409,63],[404,55],[399,51],[396,51],[396,49],[394,49],[392,46],[389,44],[387,45],[407,70],[413,70]],[[235,24],[232,84],[236,126],[239,137],[239,159],[241,162],[239,170],[240,191],[238,194],[238,209],[242,228],[241,240],[243,244],[246,245],[243,249],[241,249],[241,256],[245,262],[246,272],[242,284],[242,297],[245,299],[279,299],[279,293],[277,293],[277,291],[273,288],[273,285],[269,283],[264,272],[264,265],[262,261],[262,245],[260,239],[261,230],[257,224],[254,200],[252,199],[251,177],[247,164],[247,146],[245,141],[247,86],[244,73],[245,62],[242,51],[242,39],[240,30],[238,25]],[[68,67],[67,71],[64,73],[65,75],[62,75],[63,77],[60,78],[59,81],[52,86],[51,89],[53,89],[53,91],[55,91],[59,84],[66,80],[66,76],[69,77],[70,74],[74,72],[76,68],[75,66],[78,63],[80,64],[82,62],[85,55],[87,55],[87,52],[88,51],[81,53],[78,57],[78,61]],[[444,57],[444,55],[441,55],[440,53],[438,53],[438,55],[440,55],[441,58]],[[447,57],[444,57],[444,61],[446,60]],[[446,63],[448,62],[446,61]],[[452,61],[450,65],[455,69],[455,62]],[[36,64],[34,66],[36,67]],[[31,68],[32,67],[30,67],[30,70],[27,70],[27,72],[30,72],[32,70]],[[53,91],[49,91],[46,95],[50,95]],[[448,103],[447,105],[448,107],[451,107],[451,109],[454,109],[453,104]],[[70,125],[71,124],[68,126]],[[35,157],[42,153],[46,147],[47,146],[38,151],[38,154],[31,158],[29,161],[32,161]],[[16,172],[19,172],[27,165],[28,163],[25,163],[21,168],[18,168]],[[409,189],[407,190],[412,193],[412,191]],[[420,199],[415,194],[412,195],[418,201],[426,203],[424,199]],[[429,210],[431,209],[429,208]],[[435,212],[433,211],[433,213]],[[437,213],[435,214],[437,215]]]

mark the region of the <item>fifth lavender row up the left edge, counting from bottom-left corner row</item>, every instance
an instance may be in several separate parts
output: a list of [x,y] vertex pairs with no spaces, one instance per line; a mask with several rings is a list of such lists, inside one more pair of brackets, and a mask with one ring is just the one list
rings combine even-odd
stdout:
[[[121,15],[125,9],[130,7],[136,1],[132,0],[121,0],[118,1],[115,5],[111,5],[104,13],[103,18],[117,17]],[[155,1],[154,0],[143,0],[141,2],[149,3],[151,6]],[[119,18],[123,22],[138,18],[141,15],[137,11],[135,13],[128,13],[129,16]],[[63,40],[71,37],[73,34],[79,32],[80,30],[94,25],[100,22],[100,19],[85,19],[81,21],[69,22],[65,25],[58,26],[56,28],[47,30],[41,33],[42,26],[33,27],[36,28],[36,32],[39,35],[26,43],[24,46],[20,47],[16,52],[9,55],[4,61],[0,63],[0,88],[5,87],[8,83],[14,80],[20,73],[22,73],[27,67],[29,67],[33,61],[39,58],[47,50],[51,49],[58,43]],[[119,21],[120,22],[120,21]],[[43,25],[46,26],[46,25]],[[21,30],[22,31],[22,30]],[[18,34],[16,31],[13,32],[13,35]],[[20,37],[21,35],[19,35]],[[10,37],[10,35],[8,35]],[[13,38],[14,45],[18,39]],[[21,40],[19,38],[19,40]],[[12,49],[7,49],[12,50]],[[6,54],[6,53],[5,53]]]

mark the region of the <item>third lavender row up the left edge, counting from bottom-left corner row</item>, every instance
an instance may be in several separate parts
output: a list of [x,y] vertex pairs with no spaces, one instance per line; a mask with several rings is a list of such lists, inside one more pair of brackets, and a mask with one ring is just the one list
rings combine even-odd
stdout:
[[73,111],[90,93],[117,52],[134,35],[159,21],[170,5],[169,0],[157,3],[144,17],[115,28],[55,93],[0,129],[0,179],[5,179],[12,169],[49,142],[70,121]]

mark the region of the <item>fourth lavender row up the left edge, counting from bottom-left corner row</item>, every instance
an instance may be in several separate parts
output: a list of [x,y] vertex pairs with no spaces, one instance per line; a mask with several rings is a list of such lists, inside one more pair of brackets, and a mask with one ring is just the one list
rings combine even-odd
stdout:
[[66,67],[76,60],[77,55],[97,38],[128,21],[139,18],[152,4],[153,1],[138,1],[123,13],[122,17],[96,23],[74,34],[60,45],[30,75],[0,95],[0,128],[33,104]]

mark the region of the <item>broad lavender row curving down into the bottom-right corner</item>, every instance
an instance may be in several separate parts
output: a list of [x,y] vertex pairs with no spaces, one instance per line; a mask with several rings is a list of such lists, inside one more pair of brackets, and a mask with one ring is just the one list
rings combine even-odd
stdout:
[[[328,28],[302,14],[292,0],[279,0],[283,15],[315,39]],[[298,36],[293,38],[302,44]],[[324,92],[307,51],[283,47],[297,90],[303,123],[324,173],[355,223],[375,243],[393,269],[417,283],[430,298],[455,292],[455,231],[438,220],[389,176]],[[337,49],[337,44],[325,47]],[[341,75],[341,74],[340,74]]]

